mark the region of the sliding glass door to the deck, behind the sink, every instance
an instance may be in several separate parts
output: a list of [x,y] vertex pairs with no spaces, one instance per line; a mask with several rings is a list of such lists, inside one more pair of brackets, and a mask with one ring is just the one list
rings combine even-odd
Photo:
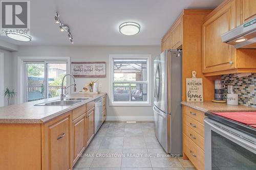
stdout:
[[[26,94],[24,101],[30,102],[60,96],[61,81],[67,74],[66,61],[25,61],[24,68],[24,94]],[[66,87],[66,80],[64,87]]]

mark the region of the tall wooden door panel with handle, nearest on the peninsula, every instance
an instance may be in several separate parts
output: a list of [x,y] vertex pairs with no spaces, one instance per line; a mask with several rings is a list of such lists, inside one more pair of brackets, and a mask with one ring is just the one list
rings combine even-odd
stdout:
[[49,169],[69,169],[69,117],[48,127]]

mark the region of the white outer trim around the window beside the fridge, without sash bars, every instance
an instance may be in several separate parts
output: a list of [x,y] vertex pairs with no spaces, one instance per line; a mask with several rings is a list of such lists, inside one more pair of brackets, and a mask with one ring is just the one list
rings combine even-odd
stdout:
[[[152,106],[152,90],[151,90],[151,81],[152,78],[150,75],[152,75],[152,64],[151,64],[151,58],[152,55],[150,54],[111,54],[109,55],[109,72],[110,72],[110,88],[109,88],[109,94],[110,94],[110,102],[109,106]],[[147,59],[147,102],[113,102],[114,100],[114,94],[113,94],[113,59]]]

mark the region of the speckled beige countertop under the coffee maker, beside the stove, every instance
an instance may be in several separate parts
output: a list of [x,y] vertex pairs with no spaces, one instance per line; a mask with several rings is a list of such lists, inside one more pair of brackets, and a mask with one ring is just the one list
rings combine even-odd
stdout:
[[226,103],[215,102],[181,102],[182,105],[197,109],[203,112],[225,112],[225,111],[256,111],[255,107],[243,105],[227,105]]

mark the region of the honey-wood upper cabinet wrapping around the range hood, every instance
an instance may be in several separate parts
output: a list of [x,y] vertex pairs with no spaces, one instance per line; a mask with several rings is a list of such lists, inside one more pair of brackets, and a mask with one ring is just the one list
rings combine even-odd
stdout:
[[256,49],[235,49],[221,35],[255,16],[256,1],[226,0],[205,19],[202,26],[204,76],[256,72]]

